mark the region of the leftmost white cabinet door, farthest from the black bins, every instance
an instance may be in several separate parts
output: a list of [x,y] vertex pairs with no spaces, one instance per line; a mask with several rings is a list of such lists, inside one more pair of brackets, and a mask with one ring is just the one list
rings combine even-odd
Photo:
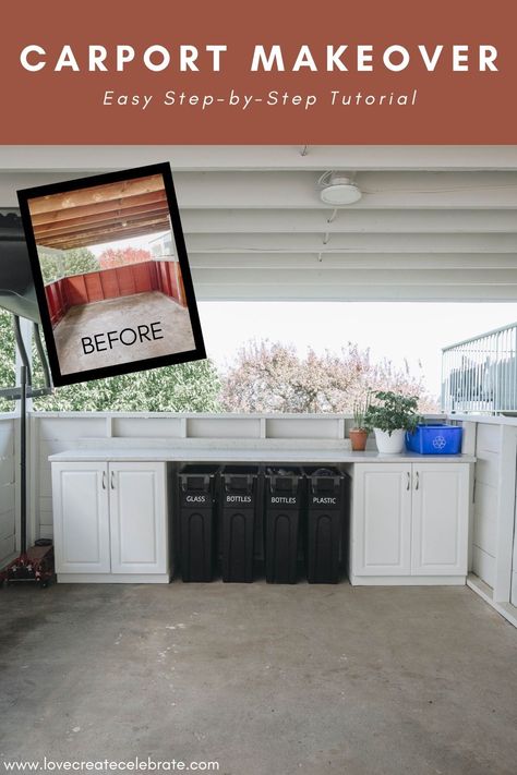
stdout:
[[109,573],[107,487],[105,463],[52,463],[58,573]]

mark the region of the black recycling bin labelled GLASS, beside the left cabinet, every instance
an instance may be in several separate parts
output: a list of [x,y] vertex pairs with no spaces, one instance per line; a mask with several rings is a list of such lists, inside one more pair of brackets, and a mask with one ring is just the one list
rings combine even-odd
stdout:
[[217,465],[185,465],[178,474],[183,581],[212,581],[216,546]]

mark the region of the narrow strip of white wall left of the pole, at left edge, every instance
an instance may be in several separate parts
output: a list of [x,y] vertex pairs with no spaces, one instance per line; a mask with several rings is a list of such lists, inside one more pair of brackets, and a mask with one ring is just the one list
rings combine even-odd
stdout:
[[17,421],[0,416],[0,567],[15,550],[14,431]]

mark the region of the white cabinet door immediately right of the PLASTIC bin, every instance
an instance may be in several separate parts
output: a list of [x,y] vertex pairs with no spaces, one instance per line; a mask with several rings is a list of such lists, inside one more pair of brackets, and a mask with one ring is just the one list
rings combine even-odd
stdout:
[[356,464],[352,542],[356,576],[409,576],[411,465]]

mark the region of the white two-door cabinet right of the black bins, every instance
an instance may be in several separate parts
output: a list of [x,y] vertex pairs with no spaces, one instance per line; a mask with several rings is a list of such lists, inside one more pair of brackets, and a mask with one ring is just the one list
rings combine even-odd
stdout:
[[468,463],[356,464],[351,582],[462,583],[468,522]]

